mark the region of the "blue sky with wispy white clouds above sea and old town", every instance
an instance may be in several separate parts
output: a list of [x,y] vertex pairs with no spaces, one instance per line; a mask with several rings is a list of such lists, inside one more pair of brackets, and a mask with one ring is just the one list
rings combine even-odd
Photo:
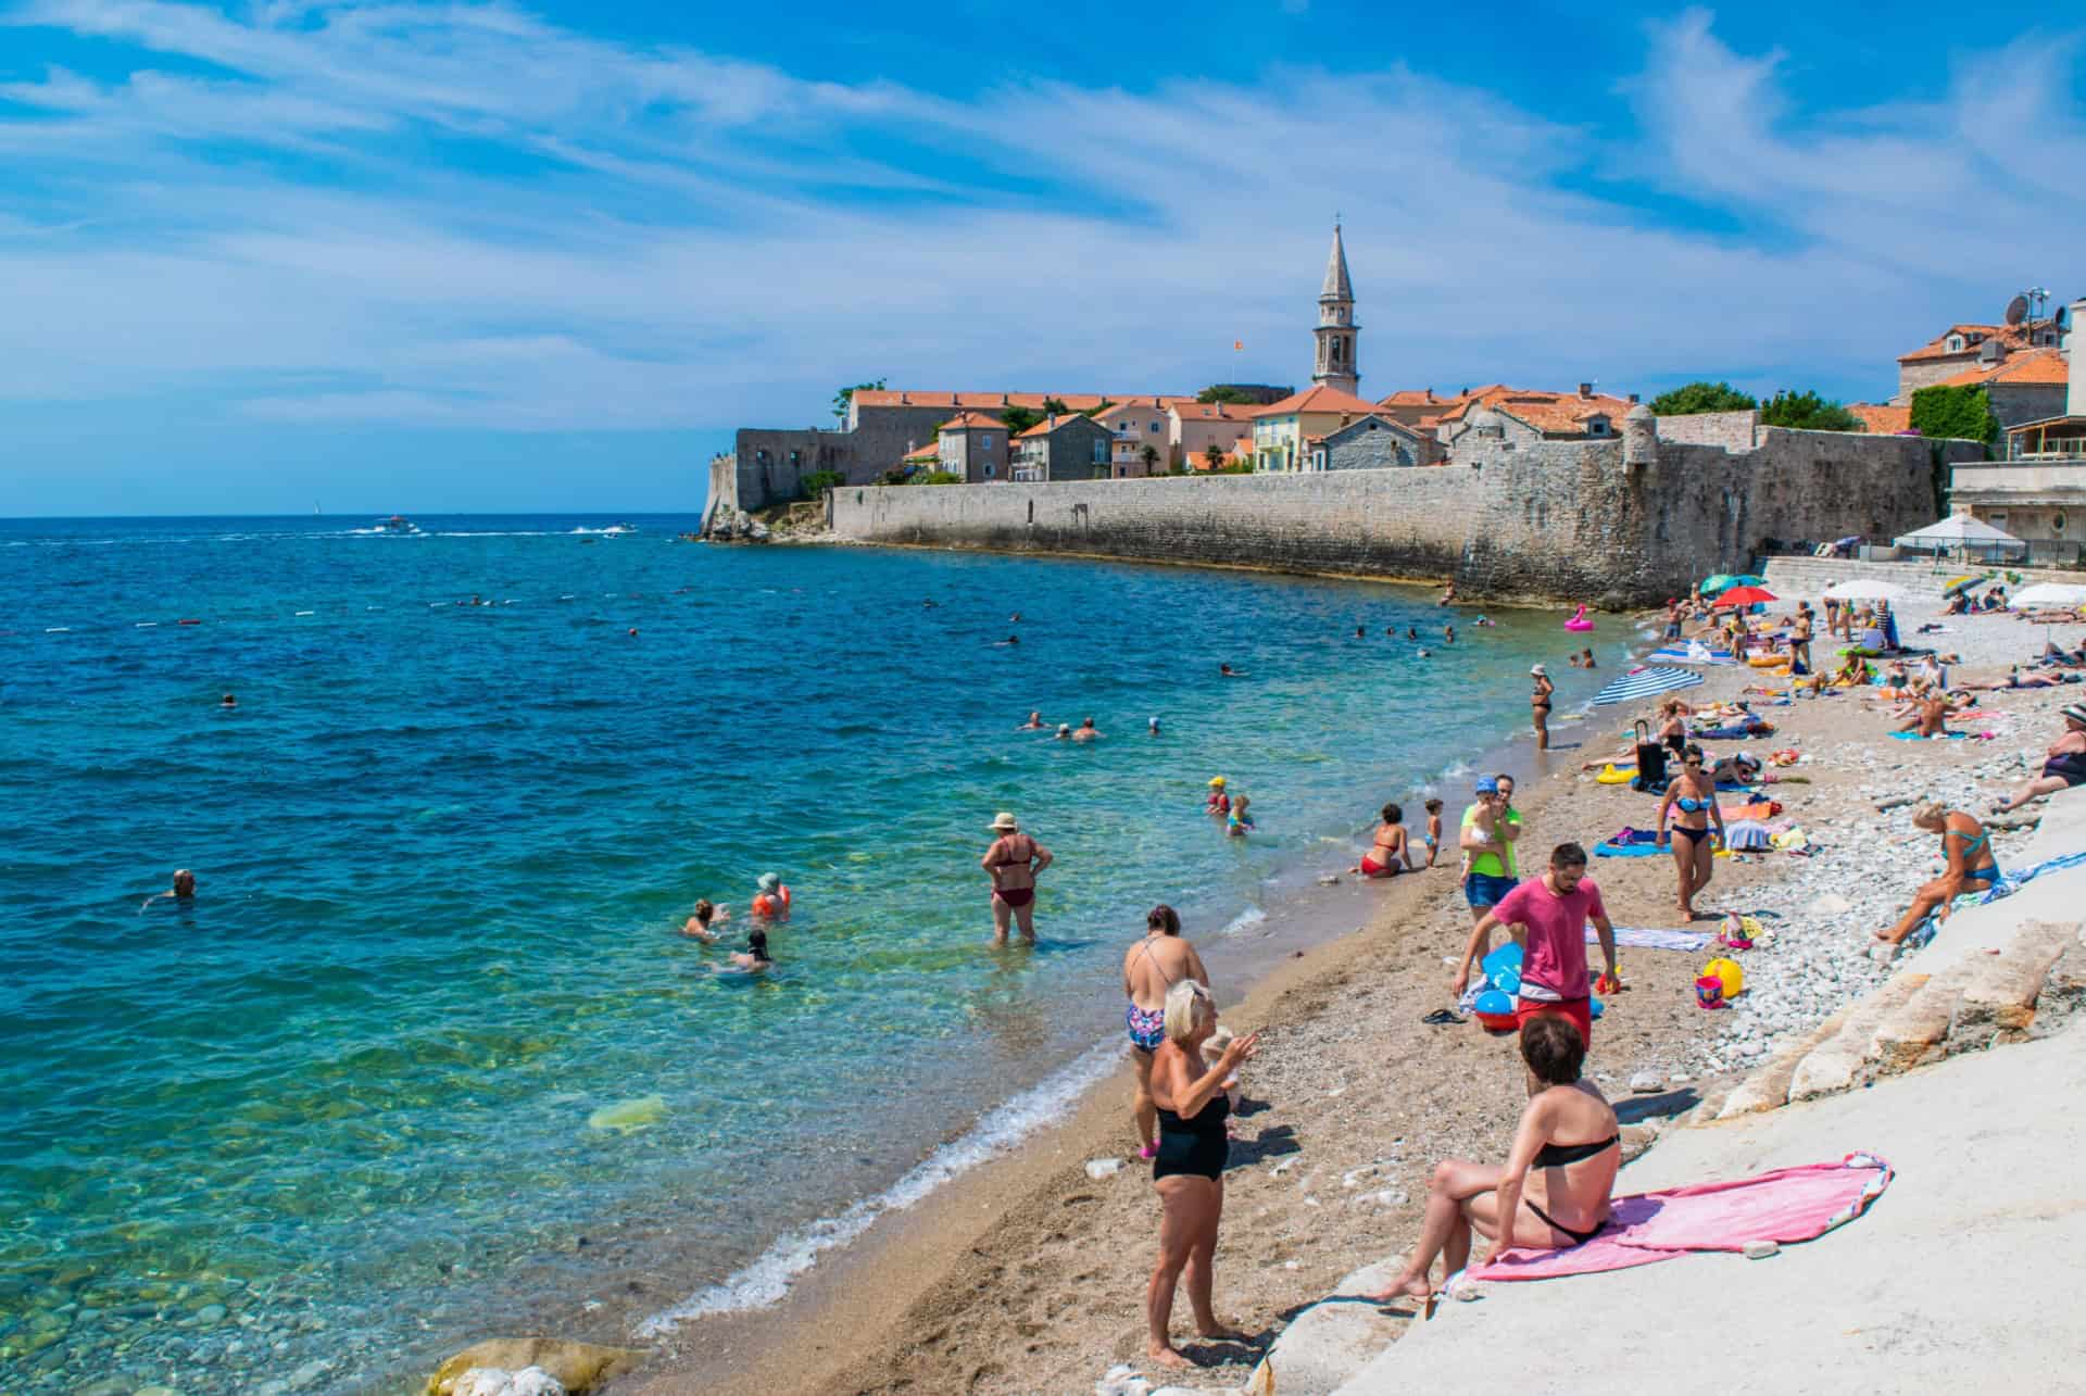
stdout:
[[1293,384],[1335,211],[1371,394],[1879,401],[2086,294],[2042,17],[0,0],[0,513],[695,509],[843,382]]

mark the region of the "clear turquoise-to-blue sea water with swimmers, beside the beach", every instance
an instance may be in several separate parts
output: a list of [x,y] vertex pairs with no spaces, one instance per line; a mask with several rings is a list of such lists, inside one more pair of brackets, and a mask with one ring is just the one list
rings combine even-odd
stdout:
[[[1149,904],[1250,922],[1533,657],[1592,687],[1406,588],[607,524],[0,524],[0,1390],[384,1390],[665,1239],[661,1308],[766,1302],[1114,1060]],[[780,966],[718,974],[674,929],[763,870]]]

